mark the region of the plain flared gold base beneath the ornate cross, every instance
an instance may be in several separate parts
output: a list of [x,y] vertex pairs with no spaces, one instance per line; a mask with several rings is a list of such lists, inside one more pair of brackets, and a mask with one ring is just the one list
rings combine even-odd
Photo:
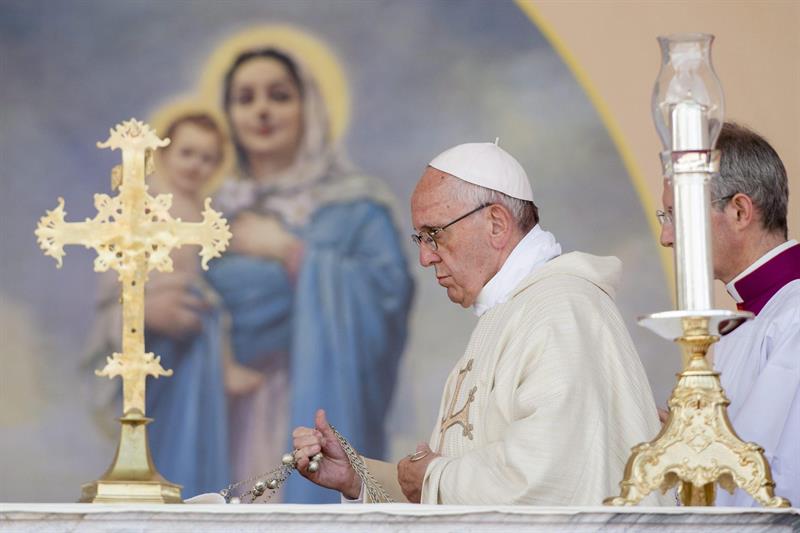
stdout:
[[84,503],[181,503],[181,486],[165,480],[153,466],[147,444],[147,418],[133,409],[122,424],[117,453],[103,477],[84,485]]

